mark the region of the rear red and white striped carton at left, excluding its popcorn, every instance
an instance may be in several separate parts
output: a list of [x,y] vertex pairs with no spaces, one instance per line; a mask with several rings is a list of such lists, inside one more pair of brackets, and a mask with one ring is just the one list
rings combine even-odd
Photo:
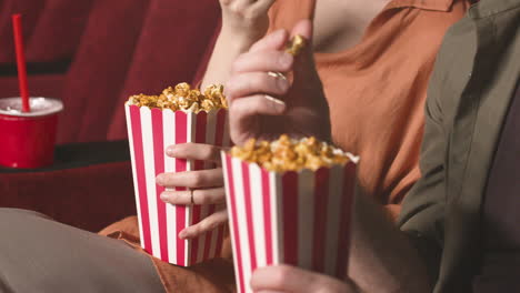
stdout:
[[222,226],[193,240],[178,238],[180,231],[214,213],[218,206],[166,204],[160,199],[164,188],[156,184],[156,176],[163,172],[214,168],[214,164],[202,161],[172,159],[164,151],[168,145],[186,142],[229,145],[228,111],[194,113],[124,107],[141,246],[162,261],[182,266],[219,256],[224,233]]

